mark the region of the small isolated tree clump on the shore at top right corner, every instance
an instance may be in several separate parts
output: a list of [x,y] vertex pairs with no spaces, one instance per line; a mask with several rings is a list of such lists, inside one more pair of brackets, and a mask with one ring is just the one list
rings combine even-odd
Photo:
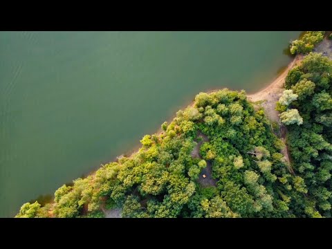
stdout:
[[308,53],[311,52],[316,44],[322,42],[324,31],[307,31],[302,39],[298,39],[291,44],[291,53]]

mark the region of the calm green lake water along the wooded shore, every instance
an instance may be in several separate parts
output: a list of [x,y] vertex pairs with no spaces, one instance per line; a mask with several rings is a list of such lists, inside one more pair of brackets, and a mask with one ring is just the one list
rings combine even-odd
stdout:
[[101,163],[209,89],[257,91],[287,32],[0,32],[0,216]]

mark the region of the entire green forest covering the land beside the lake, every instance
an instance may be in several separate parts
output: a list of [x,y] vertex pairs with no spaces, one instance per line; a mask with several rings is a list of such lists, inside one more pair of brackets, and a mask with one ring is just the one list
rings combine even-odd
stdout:
[[113,208],[130,218],[331,217],[331,84],[332,61],[319,53],[288,72],[276,109],[291,162],[245,91],[199,93],[136,153],[62,185],[53,203],[25,203],[16,217],[97,218]]

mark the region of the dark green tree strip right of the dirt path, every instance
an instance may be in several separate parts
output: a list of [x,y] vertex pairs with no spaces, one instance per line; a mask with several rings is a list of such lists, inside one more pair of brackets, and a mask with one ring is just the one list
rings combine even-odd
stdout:
[[[293,77],[295,71],[301,76]],[[310,53],[286,77],[286,89],[293,89],[299,95],[291,108],[297,109],[304,120],[300,126],[288,125],[288,145],[297,174],[293,184],[295,190],[307,194],[300,204],[304,207],[300,216],[331,217],[332,214],[331,71],[330,59]]]

